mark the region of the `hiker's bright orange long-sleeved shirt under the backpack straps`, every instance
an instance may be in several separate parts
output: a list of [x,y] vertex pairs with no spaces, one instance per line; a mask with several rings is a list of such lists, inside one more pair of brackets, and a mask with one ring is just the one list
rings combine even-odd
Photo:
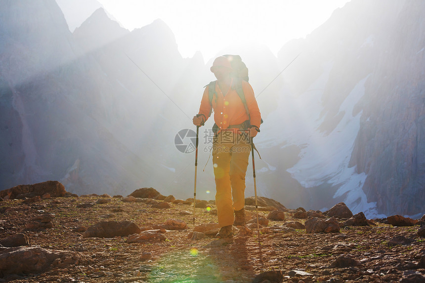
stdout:
[[[261,114],[258,109],[257,101],[255,100],[254,90],[251,84],[247,81],[242,81],[242,89],[244,90],[245,99],[250,112],[251,124],[259,128],[261,123]],[[226,96],[223,96],[218,83],[216,83],[215,91],[217,92],[217,95],[214,94],[212,101],[214,121],[220,129],[227,129],[229,125],[237,125],[250,120],[250,117],[245,110],[244,103],[233,87],[230,88]],[[204,90],[198,114],[204,115],[208,120],[210,112],[211,104],[208,85]]]

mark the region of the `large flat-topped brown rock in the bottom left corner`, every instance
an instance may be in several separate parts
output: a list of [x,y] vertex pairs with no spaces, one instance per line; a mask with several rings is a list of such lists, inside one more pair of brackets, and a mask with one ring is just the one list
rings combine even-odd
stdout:
[[42,273],[55,259],[72,256],[71,252],[41,247],[10,247],[0,250],[0,274]]

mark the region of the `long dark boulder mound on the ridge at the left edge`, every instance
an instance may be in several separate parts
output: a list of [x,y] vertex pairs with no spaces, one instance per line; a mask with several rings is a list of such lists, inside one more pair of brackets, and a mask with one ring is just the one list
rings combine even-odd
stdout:
[[16,187],[0,191],[0,198],[3,199],[24,199],[42,197],[50,194],[52,198],[64,197],[65,187],[58,181],[47,181],[33,185],[18,185]]

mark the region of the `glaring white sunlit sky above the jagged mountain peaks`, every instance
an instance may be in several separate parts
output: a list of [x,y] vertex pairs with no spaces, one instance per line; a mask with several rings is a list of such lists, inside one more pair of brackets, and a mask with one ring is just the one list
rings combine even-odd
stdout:
[[348,0],[98,0],[132,31],[162,19],[180,54],[205,60],[228,45],[260,44],[277,55],[289,40],[305,38]]

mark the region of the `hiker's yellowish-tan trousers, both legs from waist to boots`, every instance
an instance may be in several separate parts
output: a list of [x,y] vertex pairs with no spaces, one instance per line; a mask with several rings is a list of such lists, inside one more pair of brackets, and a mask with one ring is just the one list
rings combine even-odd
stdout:
[[[229,138],[229,133],[233,138]],[[213,139],[215,204],[220,227],[232,225],[233,211],[245,206],[245,174],[251,152],[249,139],[222,131]]]

